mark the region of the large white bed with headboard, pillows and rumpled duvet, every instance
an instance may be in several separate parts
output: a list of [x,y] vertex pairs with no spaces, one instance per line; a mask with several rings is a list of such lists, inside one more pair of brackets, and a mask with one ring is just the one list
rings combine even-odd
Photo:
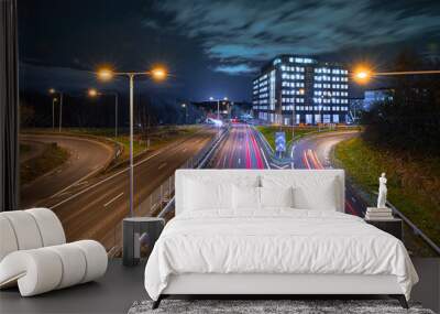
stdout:
[[145,268],[175,294],[387,294],[418,277],[400,240],[344,214],[342,170],[178,170],[176,212]]

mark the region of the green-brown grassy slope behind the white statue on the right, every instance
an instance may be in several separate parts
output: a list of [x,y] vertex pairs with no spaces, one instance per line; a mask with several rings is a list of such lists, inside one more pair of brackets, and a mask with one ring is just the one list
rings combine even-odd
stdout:
[[377,177],[386,172],[389,202],[440,245],[440,158],[376,148],[361,138],[341,142],[334,153],[365,192],[377,191]]

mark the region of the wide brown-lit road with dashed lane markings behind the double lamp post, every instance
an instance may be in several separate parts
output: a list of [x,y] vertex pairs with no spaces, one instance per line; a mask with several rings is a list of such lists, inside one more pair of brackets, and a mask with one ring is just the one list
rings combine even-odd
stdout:
[[[157,186],[201,150],[215,134],[212,129],[202,129],[136,162],[134,207],[147,199]],[[121,221],[129,214],[129,169],[81,182],[46,199],[44,205],[53,209],[62,220],[69,241],[96,239],[109,249],[116,241],[120,241]]]

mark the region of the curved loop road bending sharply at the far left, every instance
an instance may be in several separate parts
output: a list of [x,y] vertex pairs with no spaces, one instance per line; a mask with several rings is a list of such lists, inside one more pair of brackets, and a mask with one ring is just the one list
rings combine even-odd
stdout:
[[43,205],[43,201],[69,185],[100,171],[113,158],[113,148],[98,141],[66,136],[22,134],[20,140],[54,143],[66,149],[70,156],[59,167],[21,187],[20,207]]

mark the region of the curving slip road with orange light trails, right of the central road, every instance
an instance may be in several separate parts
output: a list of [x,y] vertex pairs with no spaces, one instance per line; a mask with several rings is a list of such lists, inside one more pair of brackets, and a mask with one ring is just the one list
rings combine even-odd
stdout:
[[[358,134],[358,132],[334,132],[306,137],[295,145],[295,169],[331,169],[330,154],[333,147]],[[366,206],[345,180],[345,213],[363,217]]]

